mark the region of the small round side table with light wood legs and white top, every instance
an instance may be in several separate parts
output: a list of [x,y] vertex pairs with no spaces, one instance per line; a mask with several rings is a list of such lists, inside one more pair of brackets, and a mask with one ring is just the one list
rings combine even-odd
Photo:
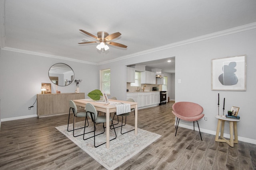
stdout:
[[[236,122],[240,121],[240,119],[230,119],[230,118],[226,118],[218,115],[216,115],[215,117],[218,118],[215,141],[226,142],[228,145],[230,145],[230,147],[234,147],[234,143],[238,143]],[[229,122],[229,133],[230,133],[229,140],[223,137],[225,121]],[[219,134],[220,134],[220,139],[219,139]],[[235,135],[235,139],[233,137],[234,135]]]

